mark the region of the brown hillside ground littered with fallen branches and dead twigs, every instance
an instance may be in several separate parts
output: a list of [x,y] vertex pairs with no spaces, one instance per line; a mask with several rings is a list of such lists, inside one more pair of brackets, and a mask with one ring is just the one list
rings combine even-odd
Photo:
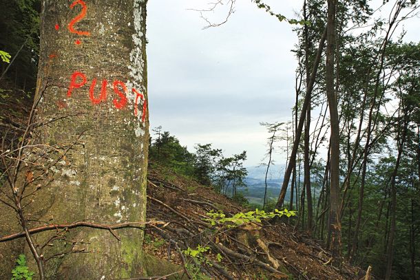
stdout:
[[[334,267],[328,250],[287,224],[296,217],[281,218],[275,225],[211,226],[206,221],[210,211],[232,217],[249,210],[156,164],[149,165],[147,196],[147,219],[166,224],[147,227],[145,252],[179,265],[179,272],[168,279],[373,279],[345,261]],[[199,251],[198,246],[207,252],[185,254],[188,248]]]

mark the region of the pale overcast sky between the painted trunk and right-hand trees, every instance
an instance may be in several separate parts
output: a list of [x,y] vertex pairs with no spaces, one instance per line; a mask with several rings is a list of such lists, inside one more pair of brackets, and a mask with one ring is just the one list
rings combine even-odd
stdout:
[[[245,150],[246,166],[258,165],[268,136],[260,122],[291,118],[297,67],[293,25],[238,0],[227,23],[203,30],[205,21],[188,9],[205,8],[207,2],[152,0],[147,5],[151,128],[162,125],[190,151],[197,143],[212,143],[227,156]],[[294,17],[302,2],[266,1],[286,17]],[[215,21],[225,15],[224,10],[209,14]],[[408,39],[419,41],[415,33]],[[284,164],[285,155],[277,155],[277,163]]]

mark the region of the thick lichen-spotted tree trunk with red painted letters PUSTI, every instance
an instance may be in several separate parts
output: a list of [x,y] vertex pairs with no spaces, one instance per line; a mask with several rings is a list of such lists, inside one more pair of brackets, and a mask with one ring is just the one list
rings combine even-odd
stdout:
[[[36,121],[59,120],[35,129],[34,135],[42,144],[79,144],[50,169],[54,181],[32,198],[26,211],[30,220],[49,224],[145,221],[146,2],[43,1]],[[40,225],[30,222],[29,227]],[[54,235],[52,230],[34,237],[42,245]],[[47,279],[120,279],[143,274],[141,228],[75,228],[68,230],[65,240],[53,241],[43,250],[43,259],[65,253],[45,263]],[[2,246],[12,245],[16,244]],[[25,253],[31,255],[28,249]],[[3,257],[8,256],[0,254],[0,271],[7,274],[10,270]],[[0,278],[6,274],[0,273]]]

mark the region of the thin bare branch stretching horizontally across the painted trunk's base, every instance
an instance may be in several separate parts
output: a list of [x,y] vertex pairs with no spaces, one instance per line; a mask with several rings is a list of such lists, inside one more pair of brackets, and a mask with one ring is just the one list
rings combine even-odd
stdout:
[[[94,224],[89,222],[76,222],[73,224],[50,224],[48,226],[39,226],[38,228],[32,228],[29,231],[30,234],[34,233],[41,233],[43,231],[48,230],[56,230],[56,229],[70,229],[70,228],[79,228],[79,227],[85,227],[85,228],[99,228],[99,229],[105,229],[109,230],[112,233],[112,230],[116,230],[119,228],[143,228],[141,226],[147,225],[147,224],[167,224],[165,222],[161,221],[149,221],[149,222],[126,222],[122,224]],[[112,233],[114,236],[115,234]],[[13,235],[6,235],[3,237],[0,237],[0,243],[5,241],[10,241],[17,238],[25,237],[25,233],[15,233]],[[118,237],[117,237],[118,239]]]

